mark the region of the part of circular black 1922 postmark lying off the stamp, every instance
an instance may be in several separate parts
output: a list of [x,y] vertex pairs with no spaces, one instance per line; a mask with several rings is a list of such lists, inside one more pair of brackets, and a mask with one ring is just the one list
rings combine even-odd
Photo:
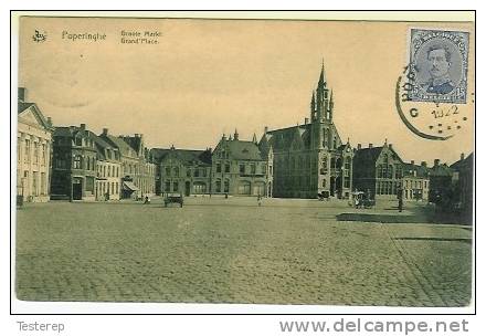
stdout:
[[395,107],[413,134],[430,140],[446,140],[471,123],[458,104],[412,101],[416,73],[410,69],[405,66],[397,80]]

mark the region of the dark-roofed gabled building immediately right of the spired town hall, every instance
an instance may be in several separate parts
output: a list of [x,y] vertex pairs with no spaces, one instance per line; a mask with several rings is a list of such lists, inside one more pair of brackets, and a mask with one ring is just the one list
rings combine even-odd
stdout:
[[352,161],[353,189],[373,199],[393,199],[402,188],[403,161],[391,144],[355,150]]

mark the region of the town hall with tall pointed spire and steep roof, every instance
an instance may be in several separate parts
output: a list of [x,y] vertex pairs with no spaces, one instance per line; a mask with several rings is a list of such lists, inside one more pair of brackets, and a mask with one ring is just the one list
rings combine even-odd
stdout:
[[273,196],[317,198],[318,195],[348,198],[352,190],[352,157],[332,120],[332,91],[324,65],[304,125],[267,130],[260,141],[273,151]]

